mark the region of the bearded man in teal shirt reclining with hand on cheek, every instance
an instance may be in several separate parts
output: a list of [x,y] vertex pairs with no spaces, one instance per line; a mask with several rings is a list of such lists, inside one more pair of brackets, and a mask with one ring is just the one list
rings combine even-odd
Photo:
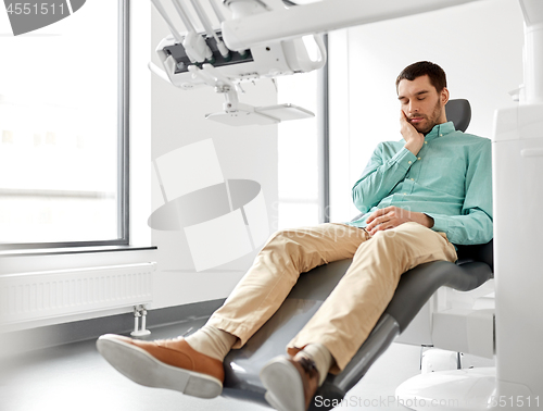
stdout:
[[187,338],[138,341],[105,335],[103,357],[135,382],[212,398],[223,388],[223,360],[277,311],[300,273],[353,258],[341,282],[261,372],[278,410],[304,411],[328,372],[341,371],[393,296],[402,273],[456,260],[455,246],[492,238],[491,146],[446,122],[445,73],[430,62],[396,79],[403,139],[380,144],[353,187],[364,215],[346,224],[276,233],[232,294]]

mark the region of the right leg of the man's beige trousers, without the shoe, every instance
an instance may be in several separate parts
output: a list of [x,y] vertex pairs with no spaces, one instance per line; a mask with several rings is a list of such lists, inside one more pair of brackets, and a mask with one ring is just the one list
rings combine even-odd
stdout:
[[403,273],[425,262],[456,259],[443,233],[420,224],[379,232],[359,246],[338,286],[289,342],[289,352],[320,342],[336,360],[332,371],[343,370],[392,299]]

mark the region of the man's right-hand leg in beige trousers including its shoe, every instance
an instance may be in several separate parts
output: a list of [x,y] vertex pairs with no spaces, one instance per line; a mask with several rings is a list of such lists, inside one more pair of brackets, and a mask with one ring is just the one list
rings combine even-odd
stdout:
[[[456,260],[454,246],[444,234],[417,223],[405,223],[379,232],[361,244],[343,278],[312,320],[289,342],[289,354],[294,360],[311,357],[304,351],[317,346],[320,352],[328,351],[333,358],[331,371],[341,371],[366,340],[392,299],[400,276],[418,264],[435,260]],[[276,409],[307,409],[316,388],[328,373],[328,370],[318,370],[318,366],[315,373],[313,366],[302,365],[300,369],[291,359],[277,358],[263,369],[261,378],[268,389],[266,396]]]

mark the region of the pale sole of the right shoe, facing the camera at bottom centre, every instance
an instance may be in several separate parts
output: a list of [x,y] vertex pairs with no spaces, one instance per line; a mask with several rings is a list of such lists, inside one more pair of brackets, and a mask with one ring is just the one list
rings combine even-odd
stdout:
[[267,389],[264,398],[279,411],[305,411],[304,388],[300,373],[289,361],[279,357],[261,371],[261,381]]

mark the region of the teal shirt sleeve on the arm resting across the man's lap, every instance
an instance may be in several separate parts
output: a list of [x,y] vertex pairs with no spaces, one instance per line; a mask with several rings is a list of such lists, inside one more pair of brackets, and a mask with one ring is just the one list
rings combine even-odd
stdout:
[[492,226],[492,149],[485,140],[469,158],[462,215],[426,213],[433,219],[433,231],[443,232],[456,245],[489,242]]

